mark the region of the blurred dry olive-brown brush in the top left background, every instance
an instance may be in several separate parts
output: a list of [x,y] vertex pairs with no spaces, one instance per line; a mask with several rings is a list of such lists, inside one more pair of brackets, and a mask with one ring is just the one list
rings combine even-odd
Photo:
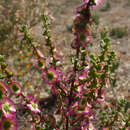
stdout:
[[1,54],[15,53],[19,46],[21,24],[32,28],[41,20],[43,2],[36,0],[0,1],[0,50]]

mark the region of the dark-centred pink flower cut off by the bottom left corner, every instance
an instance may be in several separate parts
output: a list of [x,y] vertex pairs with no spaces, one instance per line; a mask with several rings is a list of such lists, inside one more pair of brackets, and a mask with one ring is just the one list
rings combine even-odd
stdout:
[[0,121],[0,130],[18,130],[16,118],[14,116],[9,118],[2,117]]

